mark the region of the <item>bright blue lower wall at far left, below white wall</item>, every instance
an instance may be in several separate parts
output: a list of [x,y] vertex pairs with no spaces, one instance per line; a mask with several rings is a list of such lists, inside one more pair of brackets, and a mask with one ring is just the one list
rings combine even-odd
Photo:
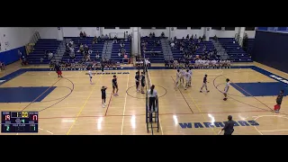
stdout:
[[17,49],[11,49],[6,50],[0,53],[0,61],[4,62],[5,65],[12,64],[15,61],[18,61],[20,59],[20,56],[18,56],[18,49],[26,55],[26,49],[25,46],[17,48]]

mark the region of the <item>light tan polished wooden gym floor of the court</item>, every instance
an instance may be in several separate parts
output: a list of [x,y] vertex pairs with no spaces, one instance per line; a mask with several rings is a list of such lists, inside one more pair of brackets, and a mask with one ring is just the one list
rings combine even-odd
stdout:
[[[1,71],[0,77],[19,69],[18,64],[10,65],[7,70]],[[286,73],[258,63],[242,65],[261,67],[277,76],[287,78]],[[58,78],[54,71],[25,72],[0,85],[0,88],[57,87],[39,103],[0,103],[0,111],[40,111],[40,130],[37,133],[40,135],[152,135],[152,132],[148,133],[146,129],[145,94],[136,93],[135,89],[136,70],[117,70],[119,71],[130,74],[117,75],[117,97],[112,96],[112,75],[95,75],[94,85],[90,85],[89,78],[85,75],[86,71],[63,71],[63,78]],[[199,92],[205,74],[208,75],[208,88],[211,91],[208,94]],[[259,124],[242,126],[240,123],[235,127],[235,135],[288,134],[286,97],[281,113],[278,114],[271,112],[276,96],[246,96],[234,86],[230,86],[229,94],[232,98],[226,102],[222,100],[223,94],[220,91],[224,88],[226,77],[229,77],[232,83],[277,82],[251,68],[193,69],[192,87],[187,90],[183,87],[175,88],[173,69],[151,69],[149,75],[152,84],[156,85],[158,95],[161,96],[160,130],[154,130],[154,135],[216,135],[221,128],[205,128],[204,122],[227,121],[229,114],[233,116],[234,121],[257,121]],[[105,108],[101,105],[100,88],[103,85],[108,86]],[[204,128],[194,128],[194,123],[198,122]],[[189,124],[192,124],[192,128],[187,126]]]

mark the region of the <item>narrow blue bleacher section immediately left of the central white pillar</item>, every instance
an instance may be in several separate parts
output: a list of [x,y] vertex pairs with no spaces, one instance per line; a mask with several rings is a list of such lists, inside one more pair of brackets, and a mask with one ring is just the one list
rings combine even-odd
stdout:
[[[122,62],[123,61],[123,58],[122,56],[118,56],[118,53],[119,53],[119,49],[121,49],[121,46],[120,46],[120,40],[118,40],[117,43],[113,43],[112,44],[112,54],[111,54],[111,59],[113,61],[116,61],[116,62]],[[124,49],[126,50],[126,54],[128,55],[128,58],[130,58],[130,54],[131,54],[131,40],[127,40],[127,41],[124,41]]]

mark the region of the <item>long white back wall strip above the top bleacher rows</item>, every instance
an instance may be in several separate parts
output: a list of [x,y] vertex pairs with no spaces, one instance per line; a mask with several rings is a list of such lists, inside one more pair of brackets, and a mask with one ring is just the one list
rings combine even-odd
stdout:
[[[125,31],[128,31],[129,33],[132,32],[132,28],[130,29],[119,29],[119,27],[116,27],[116,29],[104,29],[103,27],[100,27],[103,31],[103,34],[110,34],[110,33],[117,33],[118,35],[122,35]],[[40,37],[43,39],[59,39],[59,37],[78,37],[80,31],[85,31],[87,36],[94,37],[99,36],[101,33],[101,29],[98,29],[96,27],[63,27],[61,30],[58,30],[57,27],[46,27],[46,28],[37,28],[37,30],[40,32]],[[150,32],[155,32],[156,36],[160,36],[162,31],[165,33],[167,37],[171,36],[172,38],[176,36],[177,38],[186,37],[187,34],[195,35],[197,34],[197,37],[202,36],[204,33],[204,27],[202,27],[201,30],[192,30],[190,27],[187,28],[187,30],[178,30],[176,27],[174,27],[174,31],[170,31],[169,27],[166,27],[166,29],[141,29],[139,27],[139,33],[141,36],[148,36]],[[217,31],[217,30],[211,30],[210,36],[214,36],[215,34],[217,37],[220,38],[234,38],[235,34],[238,32],[238,27],[235,28],[235,31]],[[245,31],[248,34],[249,38],[255,37],[255,31]]]

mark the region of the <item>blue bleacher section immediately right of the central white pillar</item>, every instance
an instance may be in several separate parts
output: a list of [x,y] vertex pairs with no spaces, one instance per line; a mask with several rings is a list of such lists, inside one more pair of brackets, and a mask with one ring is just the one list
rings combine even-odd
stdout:
[[[162,45],[160,43],[159,46],[154,47],[154,40],[157,42],[158,40],[161,40],[161,37],[154,37],[154,38],[149,38],[149,37],[142,37],[142,40],[146,40],[148,42],[148,45],[146,47],[146,52],[143,51],[143,48],[141,46],[141,51],[142,55],[145,53],[145,58],[149,58],[151,63],[164,63],[164,56],[163,56],[163,49]],[[153,51],[151,51],[153,49]],[[151,52],[155,52],[156,55],[152,56]]]

